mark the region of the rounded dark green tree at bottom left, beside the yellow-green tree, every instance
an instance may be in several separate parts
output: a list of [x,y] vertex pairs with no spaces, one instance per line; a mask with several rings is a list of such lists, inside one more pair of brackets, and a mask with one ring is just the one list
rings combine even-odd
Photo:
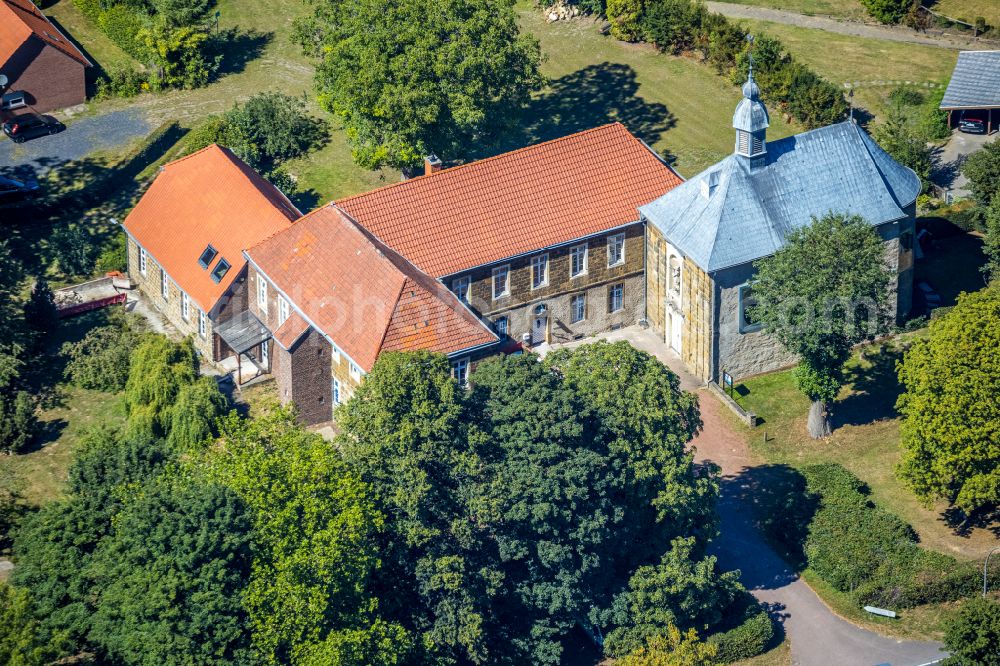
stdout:
[[227,488],[152,484],[94,554],[89,639],[126,664],[245,662],[249,523]]

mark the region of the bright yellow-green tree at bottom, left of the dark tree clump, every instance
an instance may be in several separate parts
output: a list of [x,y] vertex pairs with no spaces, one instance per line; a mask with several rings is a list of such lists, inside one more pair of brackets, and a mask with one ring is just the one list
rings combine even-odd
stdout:
[[253,420],[231,414],[220,437],[208,475],[248,507],[253,559],[243,598],[257,658],[401,663],[411,639],[381,618],[369,584],[382,516],[364,484],[284,410]]

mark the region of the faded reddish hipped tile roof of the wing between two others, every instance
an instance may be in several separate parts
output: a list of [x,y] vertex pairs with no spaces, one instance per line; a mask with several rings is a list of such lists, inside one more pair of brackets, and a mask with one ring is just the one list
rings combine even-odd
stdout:
[[443,285],[332,205],[246,256],[365,371],[383,349],[453,353],[497,341]]

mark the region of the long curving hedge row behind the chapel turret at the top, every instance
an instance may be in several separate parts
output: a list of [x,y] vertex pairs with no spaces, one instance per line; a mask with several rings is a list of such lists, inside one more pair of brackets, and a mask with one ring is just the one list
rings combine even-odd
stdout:
[[742,24],[713,14],[700,0],[608,0],[605,13],[613,36],[650,42],[666,53],[698,52],[737,84],[746,80],[752,50],[764,101],[807,128],[838,122],[847,114],[841,90],[796,61],[779,40],[761,36],[751,45]]

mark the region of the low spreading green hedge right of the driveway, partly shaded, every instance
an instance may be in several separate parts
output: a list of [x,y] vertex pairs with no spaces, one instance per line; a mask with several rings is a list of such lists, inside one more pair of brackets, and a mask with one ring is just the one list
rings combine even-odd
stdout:
[[[981,589],[975,563],[918,544],[913,528],[872,503],[864,483],[836,464],[811,465],[772,487],[759,507],[768,536],[859,604],[912,608]],[[1000,572],[992,574],[1000,584]]]

